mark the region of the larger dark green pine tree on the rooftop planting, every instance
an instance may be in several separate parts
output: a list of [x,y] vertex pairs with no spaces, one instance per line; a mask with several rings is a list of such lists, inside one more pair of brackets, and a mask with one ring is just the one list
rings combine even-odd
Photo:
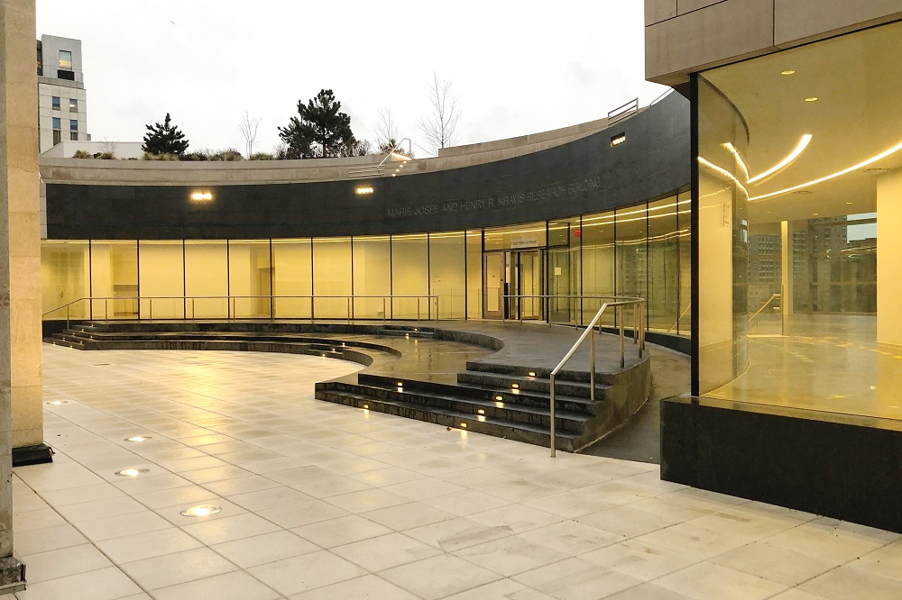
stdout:
[[287,158],[313,159],[354,154],[359,144],[351,132],[351,117],[340,113],[341,103],[330,89],[322,89],[307,105],[298,101],[298,115],[279,137],[288,146]]

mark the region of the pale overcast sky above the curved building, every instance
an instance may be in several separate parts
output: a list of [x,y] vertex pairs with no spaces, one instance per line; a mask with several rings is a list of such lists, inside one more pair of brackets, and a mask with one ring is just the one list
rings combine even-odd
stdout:
[[169,112],[190,149],[244,151],[238,123],[260,118],[254,151],[321,88],[358,139],[391,109],[426,152],[433,72],[463,107],[460,143],[601,118],[666,90],[644,81],[640,0],[37,0],[37,34],[82,41],[87,131],[140,141]]

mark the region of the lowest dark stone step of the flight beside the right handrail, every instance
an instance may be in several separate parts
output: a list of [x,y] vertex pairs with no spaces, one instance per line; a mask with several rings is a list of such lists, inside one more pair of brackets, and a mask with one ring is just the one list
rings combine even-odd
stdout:
[[[465,414],[454,410],[430,409],[421,405],[388,400],[373,395],[357,393],[336,393],[329,390],[318,390],[317,398],[340,405],[354,406],[374,412],[394,414],[408,419],[417,419],[427,423],[437,423],[448,428],[466,432],[485,433],[509,440],[524,441],[536,445],[549,445],[551,440],[547,427],[526,423],[511,423],[493,417],[484,420],[474,418],[473,414]],[[573,432],[556,431],[555,439],[558,450],[574,451],[577,435]]]

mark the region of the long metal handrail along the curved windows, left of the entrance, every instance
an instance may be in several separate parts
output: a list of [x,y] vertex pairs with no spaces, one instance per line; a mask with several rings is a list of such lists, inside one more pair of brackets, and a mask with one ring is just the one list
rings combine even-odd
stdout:
[[[156,300],[170,300],[170,301],[181,301],[184,306],[182,309],[182,316],[166,316],[160,317],[162,319],[194,319],[196,318],[197,311],[195,309],[196,302],[198,300],[225,300],[226,301],[226,319],[237,319],[237,309],[236,309],[236,300],[269,300],[270,302],[270,318],[275,317],[275,303],[278,300],[309,300],[310,302],[310,316],[309,319],[311,323],[316,319],[316,311],[315,305],[318,300],[346,300],[347,301],[347,321],[351,323],[354,320],[354,301],[356,300],[366,300],[366,299],[376,299],[382,300],[382,321],[388,320],[388,303],[393,303],[395,300],[404,300],[404,299],[415,299],[417,300],[417,321],[421,321],[423,319],[423,311],[422,311],[422,302],[423,299],[427,300],[427,320],[432,320],[433,318],[433,305],[435,310],[435,320],[441,320],[440,313],[440,305],[439,305],[439,295],[117,295],[117,296],[85,296],[78,298],[78,300],[73,300],[65,305],[57,306],[56,308],[47,311],[46,313],[41,314],[41,318],[45,318],[50,314],[58,313],[59,311],[65,309],[66,310],[66,327],[69,327],[69,323],[71,321],[71,312],[72,306],[77,305],[81,302],[91,303],[91,311],[90,311],[90,319],[95,321],[108,321],[109,317],[109,301],[133,301],[137,303],[137,311],[138,318],[141,319],[141,307],[143,302],[147,302],[148,314],[145,317],[147,320],[153,320],[153,301]],[[93,315],[93,303],[103,301],[104,303],[104,316],[101,319],[99,316],[95,317]],[[189,317],[189,309],[188,305],[191,305],[191,316]],[[307,317],[300,317],[307,318]],[[340,318],[340,317],[339,317]]]

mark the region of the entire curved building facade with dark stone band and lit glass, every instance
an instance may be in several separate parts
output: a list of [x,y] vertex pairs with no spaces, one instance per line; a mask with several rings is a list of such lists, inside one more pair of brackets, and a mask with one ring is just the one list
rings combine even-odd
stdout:
[[379,177],[354,159],[44,159],[45,318],[583,323],[618,294],[687,334],[689,104],[589,125]]

